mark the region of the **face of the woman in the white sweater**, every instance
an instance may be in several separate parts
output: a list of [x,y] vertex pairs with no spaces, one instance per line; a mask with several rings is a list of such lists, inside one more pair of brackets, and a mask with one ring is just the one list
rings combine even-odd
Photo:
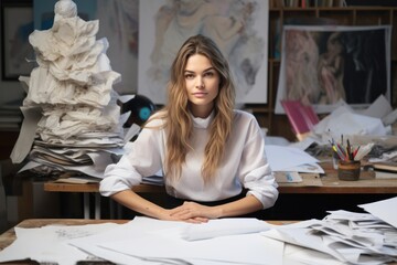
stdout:
[[219,74],[206,56],[194,54],[187,60],[184,80],[192,114],[207,117],[219,91]]

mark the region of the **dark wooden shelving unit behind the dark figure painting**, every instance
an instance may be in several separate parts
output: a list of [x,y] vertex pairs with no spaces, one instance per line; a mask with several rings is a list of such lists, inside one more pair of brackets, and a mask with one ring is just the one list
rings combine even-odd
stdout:
[[334,20],[339,25],[391,25],[391,59],[390,87],[391,106],[397,106],[397,8],[393,7],[316,7],[316,8],[275,8],[269,9],[269,57],[268,57],[268,103],[247,105],[262,127],[268,128],[268,135],[282,136],[296,140],[286,115],[276,115],[276,96],[280,59],[276,43],[282,25],[290,19],[320,18]]

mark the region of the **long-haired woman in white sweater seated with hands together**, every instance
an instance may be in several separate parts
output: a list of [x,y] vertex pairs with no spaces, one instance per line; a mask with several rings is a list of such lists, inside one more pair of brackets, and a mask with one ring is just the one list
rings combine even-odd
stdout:
[[[234,83],[215,43],[191,36],[171,73],[168,104],[150,117],[131,151],[107,167],[101,194],[148,216],[193,223],[272,206],[278,191],[264,137],[253,115],[233,109]],[[131,190],[160,169],[167,193],[181,205],[165,209]]]

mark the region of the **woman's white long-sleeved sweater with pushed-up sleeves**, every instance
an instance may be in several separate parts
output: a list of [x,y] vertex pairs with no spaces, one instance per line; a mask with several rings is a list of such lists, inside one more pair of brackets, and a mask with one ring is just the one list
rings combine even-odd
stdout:
[[[275,204],[278,198],[277,182],[265,153],[265,139],[256,118],[248,113],[235,110],[232,135],[217,176],[210,184],[204,184],[201,167],[204,148],[208,138],[208,127],[213,114],[207,118],[193,117],[193,151],[186,155],[181,178],[170,181],[164,176],[168,194],[193,201],[218,201],[242,192],[243,187],[255,195],[264,209]],[[153,119],[149,127],[157,127],[162,120]],[[109,197],[116,192],[131,189],[141,182],[142,177],[153,176],[162,170],[165,158],[167,135],[164,129],[143,128],[132,149],[116,165],[109,165],[99,191]]]

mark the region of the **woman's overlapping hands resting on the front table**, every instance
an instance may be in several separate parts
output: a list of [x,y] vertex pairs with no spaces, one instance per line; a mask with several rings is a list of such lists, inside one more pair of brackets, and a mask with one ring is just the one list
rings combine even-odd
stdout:
[[184,202],[181,206],[169,210],[170,218],[191,223],[205,223],[221,215],[215,206],[205,206],[195,202]]

